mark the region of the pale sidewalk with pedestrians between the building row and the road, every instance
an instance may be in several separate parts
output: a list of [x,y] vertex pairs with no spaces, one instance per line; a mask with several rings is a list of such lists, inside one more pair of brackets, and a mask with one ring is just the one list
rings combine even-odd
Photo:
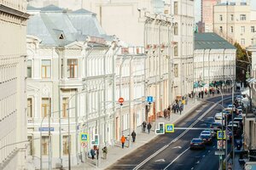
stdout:
[[[218,97],[218,96],[219,96],[218,94],[214,95],[214,97]],[[210,97],[204,97],[204,99],[209,99],[209,98],[212,98],[212,95]],[[188,115],[190,111],[193,111],[196,107],[201,105],[201,103],[202,103],[202,101],[198,101],[196,99],[188,99],[188,104],[184,105],[184,110],[181,115],[179,115],[177,113],[172,114],[171,120],[168,120],[167,118],[165,119],[164,117],[158,117],[156,122],[152,123],[152,130],[149,134],[137,132],[136,142],[135,143],[131,142],[130,148],[125,147],[125,149],[122,149],[119,144],[108,147],[107,160],[103,160],[102,158],[99,158],[99,166],[98,167],[91,165],[91,163],[88,162],[88,161],[90,161],[90,162],[92,161],[90,159],[90,160],[85,160],[87,162],[84,162],[84,163],[79,164],[78,166],[72,167],[72,169],[73,170],[104,169],[104,168],[111,166],[115,161],[118,161],[123,156],[130,154],[132,151],[136,150],[140,146],[147,144],[150,140],[154,139],[157,136],[154,133],[154,124],[155,123],[157,123],[157,125],[158,125],[158,122],[175,123],[175,122],[179,121],[180,119],[182,119],[183,116]],[[100,150],[100,151],[102,151],[102,150]],[[102,157],[101,152],[100,152],[100,156]],[[96,162],[96,160],[95,160],[95,162]]]

